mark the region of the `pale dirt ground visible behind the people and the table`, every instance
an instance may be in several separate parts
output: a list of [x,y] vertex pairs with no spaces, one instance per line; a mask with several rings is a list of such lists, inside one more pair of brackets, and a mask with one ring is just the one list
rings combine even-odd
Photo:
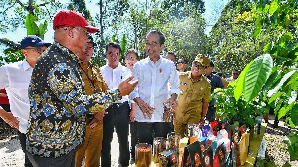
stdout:
[[[277,162],[276,166],[283,166],[284,161],[288,161],[290,155],[287,151],[287,144],[282,143],[282,141],[291,132],[298,131],[298,128],[289,129],[284,126],[284,122],[282,121],[279,122],[278,128],[273,128],[273,122],[274,115],[270,114],[269,124],[264,135],[264,139],[267,140],[266,153],[271,161]],[[119,166],[117,161],[119,156],[119,144],[116,131],[114,131],[111,150],[112,166],[117,167]],[[266,157],[266,160],[269,161],[268,157]],[[3,167],[20,167],[24,165],[24,153],[22,152],[16,129],[7,129],[4,132],[0,132],[0,159],[0,166]],[[292,161],[290,164],[298,167],[298,161]],[[84,166],[84,164],[82,166]]]

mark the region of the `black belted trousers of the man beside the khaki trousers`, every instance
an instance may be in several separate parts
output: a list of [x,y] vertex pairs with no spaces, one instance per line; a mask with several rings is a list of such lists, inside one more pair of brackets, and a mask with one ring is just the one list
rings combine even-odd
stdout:
[[[125,103],[125,102],[124,102]],[[111,166],[111,142],[113,140],[114,127],[119,142],[119,161],[123,167],[128,166],[129,163],[129,148],[128,148],[128,131],[129,131],[129,113],[130,107],[126,102],[124,105],[116,108],[112,104],[105,111],[103,118],[103,146],[101,149],[100,166]]]

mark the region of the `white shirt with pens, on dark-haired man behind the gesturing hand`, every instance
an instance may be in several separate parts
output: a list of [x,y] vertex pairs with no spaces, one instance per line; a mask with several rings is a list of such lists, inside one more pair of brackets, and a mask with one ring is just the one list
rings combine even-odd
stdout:
[[[127,79],[131,76],[131,70],[129,70],[127,67],[124,67],[120,64],[118,64],[118,67],[115,69],[112,69],[109,64],[105,64],[103,67],[99,68],[101,75],[103,76],[103,80],[108,85],[109,89],[113,89],[119,86],[119,83]],[[134,103],[134,101],[128,99],[128,95],[122,96],[121,100],[118,100],[115,103],[123,103],[125,101],[128,101],[129,103]]]

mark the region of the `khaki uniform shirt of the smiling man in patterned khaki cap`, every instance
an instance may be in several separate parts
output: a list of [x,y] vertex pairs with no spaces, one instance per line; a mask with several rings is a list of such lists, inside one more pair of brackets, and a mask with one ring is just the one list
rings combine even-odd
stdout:
[[209,102],[210,80],[202,75],[198,81],[193,81],[191,72],[182,72],[179,74],[180,95],[175,110],[176,121],[183,124],[192,124],[199,122],[203,108],[203,102]]

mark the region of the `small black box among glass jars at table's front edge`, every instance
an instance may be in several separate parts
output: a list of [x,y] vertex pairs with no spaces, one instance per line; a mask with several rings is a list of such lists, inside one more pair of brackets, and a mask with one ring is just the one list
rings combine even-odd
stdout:
[[179,150],[175,148],[167,149],[159,153],[160,167],[178,167]]

